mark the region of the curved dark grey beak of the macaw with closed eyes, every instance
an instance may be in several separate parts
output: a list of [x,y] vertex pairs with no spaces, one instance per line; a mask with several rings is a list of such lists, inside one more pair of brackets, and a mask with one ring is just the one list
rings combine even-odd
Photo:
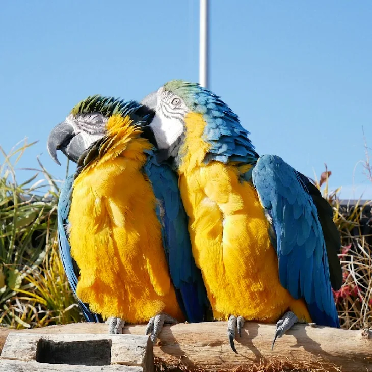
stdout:
[[85,144],[83,138],[77,136],[74,127],[63,121],[49,133],[47,148],[51,158],[58,165],[61,165],[57,158],[57,150],[61,150],[70,160],[76,163],[85,150]]

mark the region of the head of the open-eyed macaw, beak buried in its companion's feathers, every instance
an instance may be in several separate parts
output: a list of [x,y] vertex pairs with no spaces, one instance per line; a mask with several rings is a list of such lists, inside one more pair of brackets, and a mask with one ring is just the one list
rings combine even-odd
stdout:
[[258,155],[239,118],[219,96],[198,83],[174,80],[144,101],[156,110],[150,126],[164,157],[182,158],[191,149],[202,148],[203,162],[249,161]]

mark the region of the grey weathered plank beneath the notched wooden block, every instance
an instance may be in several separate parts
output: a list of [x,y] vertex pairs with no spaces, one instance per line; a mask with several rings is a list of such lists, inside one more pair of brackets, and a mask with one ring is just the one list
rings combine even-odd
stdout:
[[124,365],[68,365],[44,364],[35,361],[20,362],[18,360],[0,361],[1,372],[142,372],[141,367],[128,367]]

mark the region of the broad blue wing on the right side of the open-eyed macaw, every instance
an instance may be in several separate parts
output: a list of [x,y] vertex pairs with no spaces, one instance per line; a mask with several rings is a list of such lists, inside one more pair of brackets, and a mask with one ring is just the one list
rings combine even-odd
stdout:
[[305,299],[313,322],[338,326],[325,238],[303,178],[280,157],[264,155],[252,180],[273,219],[281,284],[295,299]]

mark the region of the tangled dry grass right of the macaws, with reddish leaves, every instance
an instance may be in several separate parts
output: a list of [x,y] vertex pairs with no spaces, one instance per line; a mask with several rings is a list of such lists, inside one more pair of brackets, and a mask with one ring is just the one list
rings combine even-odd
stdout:
[[[368,147],[365,143],[366,160],[363,162],[365,175],[372,183],[372,168],[369,163]],[[323,197],[333,206],[333,220],[341,235],[341,252],[339,254],[343,272],[343,285],[334,291],[335,302],[341,328],[359,330],[372,328],[372,217],[368,220],[366,210],[372,201],[363,205],[341,206],[339,193],[341,189],[329,192],[328,179],[332,174],[327,169],[320,181],[314,183],[322,189]],[[369,215],[372,215],[369,212]],[[370,233],[361,231],[362,223]],[[368,226],[370,228],[368,228]]]

